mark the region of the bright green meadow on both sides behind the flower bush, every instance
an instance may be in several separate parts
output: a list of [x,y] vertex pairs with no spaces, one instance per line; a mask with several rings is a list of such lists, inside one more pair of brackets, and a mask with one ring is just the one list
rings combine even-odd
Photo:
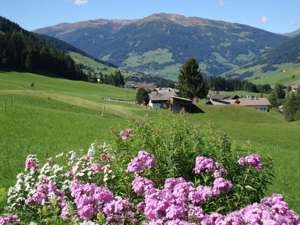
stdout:
[[[4,187],[15,183],[15,176],[24,170],[26,155],[35,153],[41,158],[45,151],[55,156],[69,150],[87,150],[95,139],[106,140],[103,134],[108,127],[121,124],[126,128],[128,114],[142,117],[148,113],[158,123],[159,112],[165,116],[170,112],[101,100],[124,99],[122,88],[71,81],[45,71],[38,73],[43,76],[0,72],[0,162],[5,165],[0,168],[0,182]],[[33,88],[29,86],[31,82],[35,83]],[[129,99],[134,99],[135,94],[135,90],[129,90]],[[7,106],[4,113],[4,99],[9,105],[10,96],[13,107]],[[273,157],[276,179],[270,190],[283,194],[289,206],[300,212],[300,123],[287,123],[275,111],[262,113],[235,105],[198,106],[203,113],[190,114],[192,124],[204,126],[211,120],[238,145],[250,139],[260,155]]]

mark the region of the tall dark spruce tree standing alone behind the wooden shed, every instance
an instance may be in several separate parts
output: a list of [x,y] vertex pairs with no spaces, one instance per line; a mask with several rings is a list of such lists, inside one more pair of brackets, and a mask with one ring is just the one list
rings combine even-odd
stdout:
[[176,95],[181,98],[205,98],[208,90],[205,88],[202,74],[199,70],[199,64],[196,63],[195,58],[188,59],[179,70],[178,74],[179,84]]

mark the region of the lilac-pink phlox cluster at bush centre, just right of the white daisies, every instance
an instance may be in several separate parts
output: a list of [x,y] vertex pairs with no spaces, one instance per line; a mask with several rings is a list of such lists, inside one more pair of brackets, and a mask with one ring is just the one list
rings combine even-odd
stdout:
[[148,152],[140,151],[138,156],[131,160],[128,164],[126,172],[134,172],[136,175],[142,173],[146,166],[151,168],[156,164],[154,155],[150,155]]

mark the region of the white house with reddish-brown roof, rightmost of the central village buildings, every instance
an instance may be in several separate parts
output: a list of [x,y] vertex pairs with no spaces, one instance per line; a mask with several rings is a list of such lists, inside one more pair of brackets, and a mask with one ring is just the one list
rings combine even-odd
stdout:
[[256,97],[239,98],[235,100],[234,104],[253,108],[265,113],[269,111],[269,107],[271,105],[271,103],[268,101],[267,98],[256,98]]

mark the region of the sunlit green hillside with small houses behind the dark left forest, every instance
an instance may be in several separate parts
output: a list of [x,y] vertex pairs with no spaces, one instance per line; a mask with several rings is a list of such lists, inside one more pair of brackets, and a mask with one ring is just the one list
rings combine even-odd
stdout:
[[[76,53],[76,52],[71,52],[71,51],[64,51],[65,53],[67,53],[68,55],[70,55],[73,60],[77,63],[83,63],[84,65],[90,65],[91,67],[107,67],[107,70],[104,70],[102,71],[103,74],[110,74],[110,73],[115,73],[115,71],[117,70],[116,68],[114,67],[110,67],[110,66],[106,66],[104,64],[101,64],[99,62],[96,62],[95,60],[91,59],[91,58],[88,58],[86,56],[83,56],[79,53]],[[96,72],[99,72],[101,70],[96,70]],[[124,73],[124,72],[121,72],[121,74],[126,77],[126,76],[131,76],[130,73]]]

